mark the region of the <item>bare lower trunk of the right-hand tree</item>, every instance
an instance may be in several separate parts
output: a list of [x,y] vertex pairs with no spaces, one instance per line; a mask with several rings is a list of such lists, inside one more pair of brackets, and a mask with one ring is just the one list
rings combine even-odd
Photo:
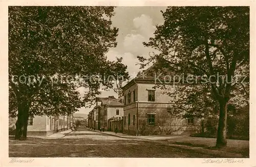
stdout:
[[227,102],[220,102],[219,126],[216,147],[227,146]]

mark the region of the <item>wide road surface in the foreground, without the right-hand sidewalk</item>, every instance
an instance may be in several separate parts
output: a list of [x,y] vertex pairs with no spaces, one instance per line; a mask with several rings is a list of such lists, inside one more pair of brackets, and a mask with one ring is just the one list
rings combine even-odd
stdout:
[[9,157],[219,157],[174,147],[168,142],[120,138],[90,130],[73,131],[62,138],[9,138]]

